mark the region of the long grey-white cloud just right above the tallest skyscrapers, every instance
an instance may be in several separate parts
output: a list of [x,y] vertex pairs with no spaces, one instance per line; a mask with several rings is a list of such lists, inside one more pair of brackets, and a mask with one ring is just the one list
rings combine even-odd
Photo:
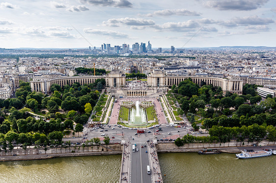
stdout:
[[189,20],[187,22],[168,22],[163,23],[162,25],[152,25],[152,28],[155,28],[157,30],[171,30],[171,31],[183,31],[184,29],[193,29],[198,27],[199,24],[196,21]]

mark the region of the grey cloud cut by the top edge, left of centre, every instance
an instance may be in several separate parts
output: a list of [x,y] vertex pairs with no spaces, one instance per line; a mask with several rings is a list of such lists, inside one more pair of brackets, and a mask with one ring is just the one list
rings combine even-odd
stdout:
[[132,7],[132,3],[128,0],[81,0],[81,2],[96,6],[113,6],[119,8]]

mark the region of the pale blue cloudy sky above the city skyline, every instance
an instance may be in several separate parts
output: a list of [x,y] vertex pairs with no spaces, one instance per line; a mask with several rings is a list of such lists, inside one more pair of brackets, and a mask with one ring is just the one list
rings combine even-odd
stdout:
[[276,46],[276,0],[0,0],[1,48]]

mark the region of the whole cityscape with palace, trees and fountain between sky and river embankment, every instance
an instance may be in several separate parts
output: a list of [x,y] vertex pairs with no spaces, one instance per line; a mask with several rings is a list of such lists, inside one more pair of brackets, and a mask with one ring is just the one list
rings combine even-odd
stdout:
[[1,150],[46,153],[144,132],[177,146],[275,144],[275,48],[149,48],[1,49]]

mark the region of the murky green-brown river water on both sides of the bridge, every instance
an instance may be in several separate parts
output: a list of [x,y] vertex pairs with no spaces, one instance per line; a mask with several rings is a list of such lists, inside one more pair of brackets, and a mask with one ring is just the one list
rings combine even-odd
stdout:
[[[275,183],[276,156],[160,153],[164,183]],[[121,155],[0,162],[0,183],[118,183]]]

